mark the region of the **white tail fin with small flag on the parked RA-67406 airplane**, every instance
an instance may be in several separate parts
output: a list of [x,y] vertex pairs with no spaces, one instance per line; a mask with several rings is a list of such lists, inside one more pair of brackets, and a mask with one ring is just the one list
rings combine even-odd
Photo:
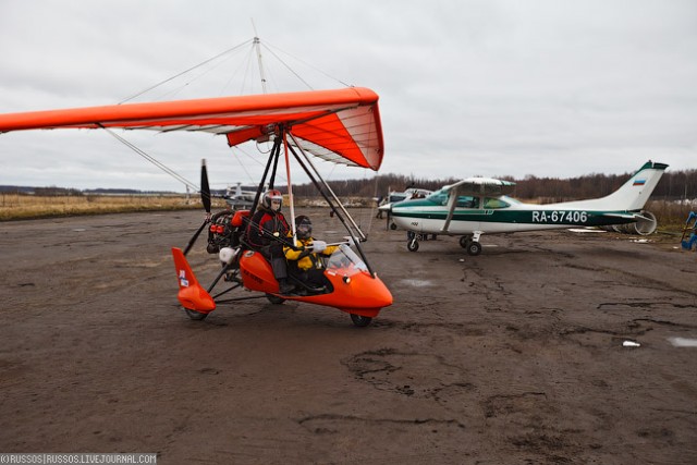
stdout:
[[612,194],[601,198],[564,203],[563,206],[594,210],[638,211],[646,205],[667,168],[665,163],[649,160]]

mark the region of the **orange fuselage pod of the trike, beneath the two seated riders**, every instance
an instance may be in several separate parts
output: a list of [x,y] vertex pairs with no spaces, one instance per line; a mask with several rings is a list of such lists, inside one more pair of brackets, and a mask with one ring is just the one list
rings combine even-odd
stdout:
[[[268,294],[279,293],[279,284],[273,271],[264,256],[247,250],[240,259],[240,270],[244,286],[250,291]],[[367,271],[332,269],[325,270],[325,277],[333,291],[317,295],[282,295],[288,301],[334,307],[348,314],[376,317],[380,309],[392,305],[392,294],[378,277]]]

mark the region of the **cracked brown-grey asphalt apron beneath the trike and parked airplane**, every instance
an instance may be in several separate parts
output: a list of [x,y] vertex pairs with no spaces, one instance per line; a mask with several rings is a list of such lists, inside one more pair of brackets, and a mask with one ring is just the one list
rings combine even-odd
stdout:
[[[345,234],[298,212],[318,238]],[[0,452],[695,463],[694,253],[568,231],[485,234],[478,257],[456,237],[409,253],[371,215],[356,218],[394,304],[367,328],[265,298],[189,320],[170,246],[198,211],[0,223]],[[189,258],[204,283],[219,269],[204,241]]]

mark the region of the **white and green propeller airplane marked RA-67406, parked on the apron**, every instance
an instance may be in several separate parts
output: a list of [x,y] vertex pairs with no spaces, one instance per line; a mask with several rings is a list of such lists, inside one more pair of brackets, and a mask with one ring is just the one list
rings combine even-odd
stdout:
[[648,161],[614,193],[587,200],[559,204],[524,204],[508,197],[515,183],[489,178],[469,178],[421,199],[390,206],[390,217],[407,231],[407,248],[429,234],[461,235],[460,245],[479,255],[484,233],[511,233],[570,227],[602,227],[655,221],[641,209],[668,164]]

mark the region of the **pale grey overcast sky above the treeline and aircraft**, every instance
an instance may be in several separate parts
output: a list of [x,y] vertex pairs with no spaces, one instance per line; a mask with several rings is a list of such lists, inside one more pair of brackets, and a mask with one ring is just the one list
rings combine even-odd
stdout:
[[[253,21],[268,91],[348,84],[380,96],[381,173],[697,168],[694,0],[0,0],[0,112],[117,103],[235,46],[132,101],[259,94]],[[200,158],[216,187],[262,171],[255,146],[222,136],[120,134],[194,182]],[[2,134],[0,160],[0,184],[184,191],[103,131]]]

